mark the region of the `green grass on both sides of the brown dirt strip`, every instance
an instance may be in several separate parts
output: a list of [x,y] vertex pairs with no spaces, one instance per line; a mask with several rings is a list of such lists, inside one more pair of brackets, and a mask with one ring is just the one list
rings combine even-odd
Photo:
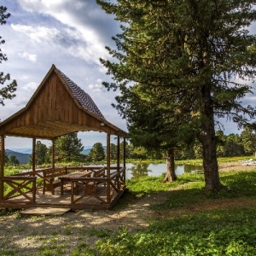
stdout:
[[[221,172],[229,189],[218,194],[202,193],[202,175],[184,174],[175,183],[162,183],[163,177],[143,177],[128,181],[130,198],[146,196],[178,186],[165,202],[154,205],[156,212],[194,207],[204,202],[247,198],[256,201],[256,172]],[[133,197],[131,196],[133,195]],[[254,204],[255,205],[255,204]],[[218,210],[189,212],[172,218],[155,218],[148,228],[129,233],[127,229],[97,241],[98,255],[255,255],[256,207],[233,206]],[[171,216],[171,217],[168,217]]]

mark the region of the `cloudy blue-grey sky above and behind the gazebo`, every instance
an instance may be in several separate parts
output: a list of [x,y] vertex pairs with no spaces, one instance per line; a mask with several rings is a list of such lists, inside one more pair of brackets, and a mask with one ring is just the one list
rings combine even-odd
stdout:
[[[52,64],[87,92],[109,122],[126,129],[125,120],[111,107],[114,93],[108,92],[102,81],[111,78],[99,62],[108,58],[105,45],[114,46],[111,39],[119,32],[119,24],[94,0],[0,0],[11,17],[0,26],[1,45],[8,61],[1,71],[10,73],[18,82],[15,99],[0,106],[3,121],[26,106],[38,84]],[[255,26],[252,28],[256,31]],[[255,105],[254,96],[247,102]],[[225,122],[224,122],[225,123]],[[236,125],[225,123],[225,133],[238,133]],[[106,145],[106,134],[79,133],[84,146],[100,142]],[[29,139],[8,138],[6,148],[31,148]]]

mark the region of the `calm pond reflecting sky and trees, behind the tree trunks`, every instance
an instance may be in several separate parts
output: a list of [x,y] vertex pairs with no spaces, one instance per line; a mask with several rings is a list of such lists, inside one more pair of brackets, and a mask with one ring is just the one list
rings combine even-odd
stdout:
[[[176,175],[185,172],[202,171],[202,166],[177,165],[175,166]],[[126,163],[126,178],[142,176],[160,176],[166,173],[166,164],[131,164]]]

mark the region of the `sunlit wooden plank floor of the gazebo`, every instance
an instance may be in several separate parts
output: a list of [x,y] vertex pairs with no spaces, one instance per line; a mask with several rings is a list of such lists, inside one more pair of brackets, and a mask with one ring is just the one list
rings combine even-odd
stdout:
[[[99,187],[97,189],[97,194],[101,196],[101,198],[106,201],[107,200],[107,189],[105,187]],[[119,193],[120,194],[120,193]],[[61,189],[55,189],[55,195],[52,195],[50,192],[45,192],[43,195],[43,189],[38,189],[36,192],[36,203],[31,203],[26,201],[26,199],[19,195],[15,196],[9,200],[0,203],[0,207],[3,208],[31,208],[31,207],[63,207],[69,208],[73,211],[81,210],[81,209],[95,209],[95,210],[103,210],[110,209],[113,207],[120,197],[116,191],[113,191],[112,199],[110,204],[104,204],[93,195],[86,195],[79,202],[71,205],[71,195],[70,190],[65,189],[63,195],[61,195]],[[123,193],[121,193],[123,194]],[[27,195],[32,195],[32,193],[27,193]],[[79,195],[82,195],[80,192]],[[79,196],[78,195],[78,196]]]

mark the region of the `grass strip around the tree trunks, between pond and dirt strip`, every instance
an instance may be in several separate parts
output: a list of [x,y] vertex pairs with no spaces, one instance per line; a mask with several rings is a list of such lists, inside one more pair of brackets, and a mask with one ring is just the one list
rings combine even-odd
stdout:
[[220,174],[221,183],[229,189],[207,193],[203,190],[205,186],[203,175],[183,174],[173,183],[162,183],[162,178],[145,177],[132,181],[131,195],[127,195],[128,201],[129,198],[132,200],[137,196],[168,191],[166,201],[152,206],[159,211],[193,206],[201,201],[256,195],[256,172],[223,172]]

